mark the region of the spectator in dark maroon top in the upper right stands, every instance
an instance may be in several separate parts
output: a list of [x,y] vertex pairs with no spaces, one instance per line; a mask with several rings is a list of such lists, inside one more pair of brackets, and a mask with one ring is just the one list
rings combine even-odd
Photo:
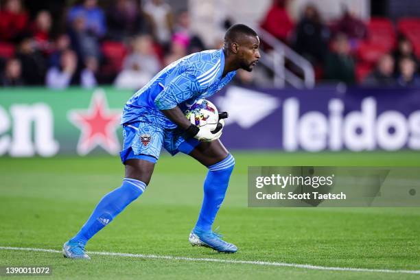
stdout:
[[331,31],[334,35],[345,34],[351,41],[364,39],[367,35],[367,27],[364,22],[351,14],[347,8],[340,19],[331,23]]

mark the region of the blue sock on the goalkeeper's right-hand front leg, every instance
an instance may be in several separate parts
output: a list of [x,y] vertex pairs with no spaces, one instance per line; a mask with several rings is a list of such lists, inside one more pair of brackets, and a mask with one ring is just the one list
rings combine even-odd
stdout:
[[229,184],[235,159],[229,154],[226,159],[209,166],[209,172],[204,183],[204,199],[195,231],[211,231],[215,216],[222,205]]

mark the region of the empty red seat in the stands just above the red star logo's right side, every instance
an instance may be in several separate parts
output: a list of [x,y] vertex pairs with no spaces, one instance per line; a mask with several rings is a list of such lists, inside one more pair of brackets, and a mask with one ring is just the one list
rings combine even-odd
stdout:
[[105,60],[102,71],[106,74],[118,73],[127,54],[126,46],[120,42],[104,41],[101,45],[101,51]]

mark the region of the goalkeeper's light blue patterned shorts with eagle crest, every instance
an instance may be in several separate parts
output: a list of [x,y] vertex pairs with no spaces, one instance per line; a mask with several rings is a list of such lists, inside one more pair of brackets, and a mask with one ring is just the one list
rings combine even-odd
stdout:
[[128,159],[143,159],[156,163],[162,147],[172,156],[178,152],[189,154],[200,141],[195,138],[185,140],[177,130],[165,130],[148,122],[134,122],[123,125],[124,148],[119,153],[121,162]]

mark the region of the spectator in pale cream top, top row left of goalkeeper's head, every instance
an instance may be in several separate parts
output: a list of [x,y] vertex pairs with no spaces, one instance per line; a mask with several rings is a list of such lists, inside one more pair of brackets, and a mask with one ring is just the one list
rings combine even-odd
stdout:
[[169,45],[173,30],[171,6],[163,0],[149,0],[144,5],[144,12],[152,19],[154,35],[159,43]]

